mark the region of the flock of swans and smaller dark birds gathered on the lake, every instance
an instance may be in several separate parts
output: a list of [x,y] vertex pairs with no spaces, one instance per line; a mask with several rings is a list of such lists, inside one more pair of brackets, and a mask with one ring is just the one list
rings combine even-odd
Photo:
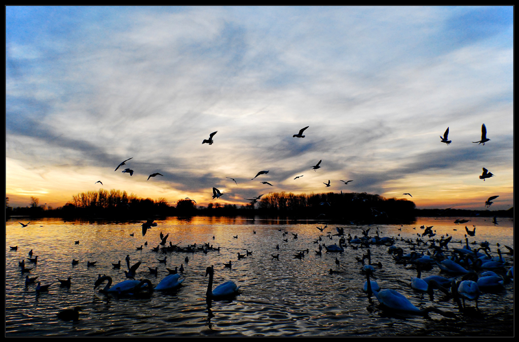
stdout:
[[[455,224],[466,222],[468,222],[468,220],[457,219],[454,221]],[[29,223],[24,224],[21,222],[20,224],[24,227],[29,225]],[[157,223],[153,222],[153,220],[148,220],[144,222],[142,226],[146,227],[146,229],[150,229],[151,227],[156,227]],[[314,244],[318,245],[314,257],[320,258],[324,254],[342,255],[343,253],[346,253],[348,247],[351,249],[351,252],[349,253],[350,255],[352,253],[359,253],[358,251],[360,251],[361,254],[357,256],[356,259],[360,264],[359,266],[361,266],[360,272],[366,277],[366,282],[364,283],[362,290],[366,292],[369,297],[372,295],[375,296],[379,301],[381,308],[384,310],[390,310],[391,312],[411,315],[427,315],[430,312],[435,312],[447,318],[457,317],[456,313],[452,311],[445,311],[432,306],[427,309],[418,309],[411,303],[411,301],[399,292],[392,290],[391,288],[383,290],[382,286],[374,281],[373,278],[375,277],[375,274],[377,274],[377,270],[383,267],[388,267],[388,265],[383,266],[381,262],[372,261],[371,250],[373,248],[387,248],[387,253],[391,255],[394,260],[395,267],[398,267],[397,265],[403,265],[404,267],[411,266],[416,269],[417,277],[412,278],[409,282],[409,285],[414,291],[427,293],[431,296],[431,299],[433,298],[434,291],[439,291],[441,294],[445,295],[446,300],[452,299],[454,304],[459,307],[460,312],[467,309],[465,304],[466,300],[475,301],[475,307],[478,309],[477,299],[481,293],[486,291],[496,291],[496,289],[502,290],[504,286],[513,280],[513,266],[510,267],[509,261],[503,257],[501,249],[497,249],[498,255],[496,256],[491,255],[492,252],[489,243],[486,241],[480,242],[479,246],[470,247],[467,237],[464,245],[461,240],[458,242],[453,241],[453,235],[449,236],[449,234],[441,236],[440,239],[434,239],[436,234],[435,231],[432,230],[433,226],[421,226],[420,228],[424,229],[424,232],[421,234],[417,233],[418,238],[415,239],[404,239],[399,238],[398,236],[381,237],[378,230],[374,235],[370,235],[371,228],[363,229],[362,236],[353,237],[349,233],[347,234],[345,232],[344,227],[336,227],[336,232],[334,234],[332,234],[334,231],[325,231],[328,228],[327,224],[324,227],[321,226],[316,228],[320,233],[316,236],[316,239],[312,241]],[[474,230],[469,230],[467,227],[465,228],[470,236],[475,235],[475,227]],[[401,230],[401,228],[399,230]],[[288,245],[289,238],[285,238],[285,236],[289,235],[289,232],[283,231],[282,229],[279,229],[279,231],[282,235],[280,236],[281,241],[284,242],[285,245]],[[253,234],[256,234],[256,231],[253,231]],[[297,232],[292,232],[291,234],[293,240],[299,239],[299,234]],[[133,234],[130,235],[133,236]],[[398,235],[400,236],[400,234]],[[429,239],[424,239],[425,236],[428,236]],[[238,235],[233,237],[238,239]],[[215,248],[210,243],[203,243],[198,246],[195,243],[181,247],[179,246],[180,243],[173,244],[169,241],[169,245],[167,245],[168,238],[169,234],[164,235],[161,232],[160,242],[157,244],[157,247],[151,249],[152,252],[163,255],[163,258],[156,258],[159,266],[148,266],[148,271],[146,273],[149,275],[157,277],[160,265],[164,264],[167,266],[168,256],[172,253],[185,253],[187,255],[188,253],[208,254],[220,252],[220,247]],[[215,237],[213,236],[213,240],[214,238]],[[323,241],[325,239],[333,241],[334,238],[338,239],[338,244],[325,244]],[[281,241],[280,243],[282,243]],[[79,241],[75,241],[74,243],[78,244]],[[454,243],[460,243],[462,244],[462,247],[457,248],[452,246]],[[476,242],[474,241],[473,244],[476,244]],[[147,242],[145,245],[147,245]],[[499,246],[499,244],[497,245]],[[404,251],[404,248],[406,248],[405,246],[408,246],[408,253]],[[513,248],[509,246],[505,247],[508,249],[507,254],[513,257]],[[137,250],[142,250],[142,248],[142,245],[136,247]],[[282,260],[279,254],[279,244],[274,248],[278,250],[278,254],[271,254],[272,260]],[[17,251],[18,246],[11,247],[11,250]],[[381,249],[379,249],[379,251],[381,251]],[[313,254],[313,252],[310,253],[310,248],[295,252],[296,253],[293,254],[293,256],[285,253],[282,257],[293,257],[294,259],[302,260],[308,258],[309,254]],[[31,249],[28,260],[31,264],[37,265],[38,256],[32,257],[33,254],[33,249]],[[250,257],[252,254],[253,252],[248,249],[245,251],[245,254],[238,252],[237,260]],[[181,264],[180,269],[177,266],[175,266],[174,269],[166,268],[169,274],[154,286],[153,282],[149,279],[135,279],[142,261],[138,261],[131,265],[130,260],[130,255],[127,255],[125,261],[128,270],[124,270],[125,278],[127,280],[113,284],[113,278],[110,275],[99,274],[95,281],[92,280],[94,281],[94,289],[100,287],[103,283],[106,283],[105,286],[99,290],[101,293],[106,295],[113,295],[116,297],[142,297],[151,296],[154,291],[174,291],[181,286],[185,286],[182,284],[184,279],[181,279],[181,274],[184,272],[184,264]],[[326,260],[331,259],[327,258]],[[188,256],[185,257],[184,261],[187,266],[189,262]],[[79,260],[73,259],[72,266],[74,267],[78,262]],[[334,270],[332,266],[327,273],[330,275],[343,273],[343,271],[340,270],[341,264],[337,257],[335,257],[334,263],[336,265],[335,268],[338,268],[339,270]],[[87,267],[94,267],[95,265],[95,261],[87,261]],[[233,260],[229,260],[228,263],[222,262],[221,265],[222,268],[230,269],[235,264],[233,264]],[[31,272],[30,268],[25,267],[25,260],[19,261],[19,267],[22,275]],[[122,267],[121,261],[119,260],[118,262],[113,263],[112,267],[114,271],[120,270]],[[351,268],[351,265],[347,267]],[[421,278],[422,272],[431,271],[435,267],[439,268],[441,275],[433,274],[429,277]],[[233,298],[240,293],[240,286],[237,286],[233,281],[226,281],[213,288],[215,268],[214,266],[209,266],[205,271],[206,277],[209,276],[206,291],[207,300]],[[37,278],[38,277],[29,277],[28,274],[25,275],[25,286],[28,287],[31,284],[36,283]],[[65,280],[58,279],[60,283],[59,286],[70,288],[72,286],[72,279],[73,277],[68,277]],[[43,285],[38,281],[35,287],[36,294],[39,295],[40,293],[48,292],[51,285],[52,284]],[[79,312],[81,311],[83,311],[81,307],[75,307],[73,309],[60,311],[57,314],[57,317],[64,321],[77,321],[79,319]]]

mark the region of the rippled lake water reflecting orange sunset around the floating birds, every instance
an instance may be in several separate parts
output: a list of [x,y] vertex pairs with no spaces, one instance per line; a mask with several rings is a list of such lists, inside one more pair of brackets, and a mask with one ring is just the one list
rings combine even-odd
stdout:
[[[316,227],[325,223],[319,221],[168,218],[155,221],[158,226],[143,236],[143,221],[40,219],[22,228],[18,221],[29,220],[11,218],[6,222],[6,336],[513,336],[513,281],[500,291],[482,293],[479,310],[475,310],[474,302],[467,302],[469,309],[459,313],[452,300],[442,300],[440,292],[431,300],[429,295],[413,291],[410,282],[416,277],[414,267],[396,265],[388,246],[372,245],[372,262],[383,264],[374,273],[380,287],[397,290],[420,309],[436,306],[456,312],[458,318],[436,313],[402,316],[383,310],[375,297],[362,291],[365,276],[356,257],[362,257],[366,248],[353,250],[348,246],[341,254],[315,253],[318,244],[314,242],[320,235],[319,243],[338,244],[338,236],[332,240],[326,237],[328,232],[336,234],[336,227],[344,228],[346,236],[361,236],[368,228],[372,236],[376,231],[381,237],[394,236],[394,245],[409,253],[411,246],[401,239],[416,240],[417,233],[424,231],[421,225],[434,226],[434,238],[453,235],[449,249],[465,245],[465,225],[471,230],[474,225],[476,234],[469,236],[469,242],[488,241],[493,256],[497,256],[497,243],[502,252],[508,252],[504,245],[513,248],[512,219],[500,218],[498,225],[489,218],[467,218],[469,222],[455,225],[454,219],[418,218],[412,225],[403,226],[330,224],[321,233]],[[288,235],[283,236],[284,231]],[[168,242],[179,246],[209,243],[219,246],[220,251],[153,252],[151,248],[161,241],[160,232],[169,233]],[[134,236],[130,236],[132,233]],[[292,233],[297,233],[297,239]],[[236,235],[237,239],[233,237]],[[77,240],[79,244],[74,243]],[[148,244],[141,251],[136,249],[145,242]],[[18,246],[18,250],[11,251],[10,246]],[[31,249],[33,257],[38,256],[36,265],[27,259]],[[238,252],[245,254],[246,249],[252,255],[238,260]],[[304,258],[294,257],[306,249],[309,254]],[[417,249],[427,251],[423,246]],[[279,260],[271,257],[278,253]],[[126,280],[126,255],[130,255],[132,265],[142,261],[135,279],[149,279],[154,286],[168,275],[166,267],[184,264],[183,286],[143,298],[108,296],[100,293],[99,287],[94,290],[98,274],[110,275],[114,284]],[[164,256],[166,266],[157,260]],[[340,265],[336,265],[336,257]],[[513,265],[513,256],[503,257]],[[18,266],[22,259],[32,268],[30,277],[38,276],[42,284],[52,283],[48,293],[36,295],[34,284],[25,286],[25,274]],[[80,260],[79,264],[72,266],[72,259]],[[121,269],[113,269],[112,263],[118,260]],[[229,260],[233,267],[224,268],[223,263]],[[97,264],[87,267],[87,261]],[[208,278],[204,276],[211,265],[214,285],[233,280],[241,286],[239,295],[232,300],[206,301]],[[149,273],[148,266],[159,267],[157,277]],[[331,268],[341,273],[331,275]],[[422,272],[422,278],[431,274],[440,274],[439,268]],[[57,279],[67,277],[72,277],[72,286],[60,287]],[[75,306],[84,309],[79,321],[57,318],[58,311]]]

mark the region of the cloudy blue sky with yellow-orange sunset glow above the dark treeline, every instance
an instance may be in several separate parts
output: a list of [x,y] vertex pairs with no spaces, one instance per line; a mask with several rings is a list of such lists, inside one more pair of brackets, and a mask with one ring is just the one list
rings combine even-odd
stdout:
[[513,7],[7,6],[9,205],[100,188],[508,209]]

